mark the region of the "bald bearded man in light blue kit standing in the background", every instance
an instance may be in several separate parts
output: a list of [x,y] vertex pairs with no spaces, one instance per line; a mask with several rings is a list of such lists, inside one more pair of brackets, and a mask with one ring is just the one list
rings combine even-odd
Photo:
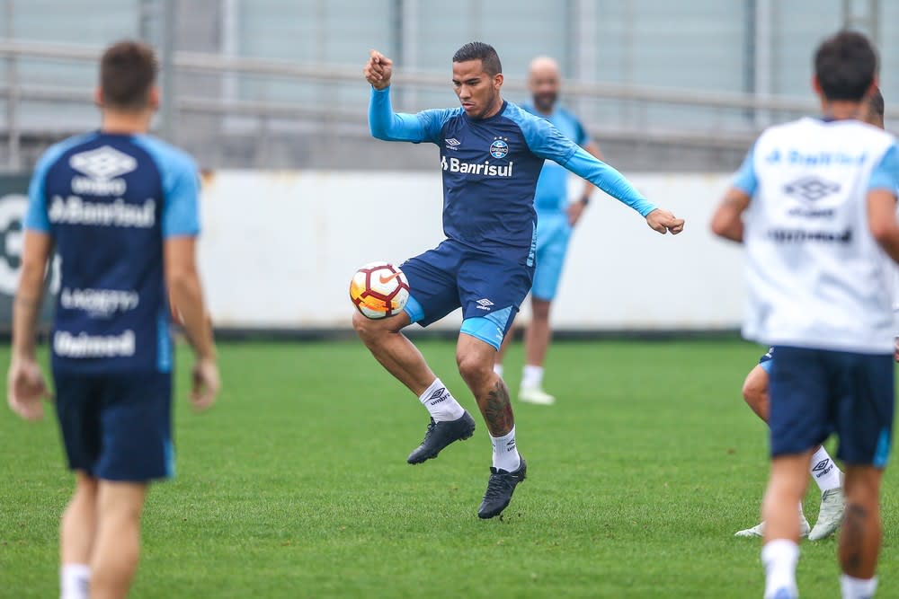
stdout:
[[[569,110],[558,106],[559,88],[562,75],[558,64],[548,57],[537,57],[530,61],[528,86],[533,103],[521,108],[543,119],[547,119],[562,135],[602,160],[600,148],[587,135],[587,130]],[[556,297],[565,252],[571,240],[571,232],[590,203],[593,184],[584,181],[581,197],[575,202],[568,201],[568,171],[558,163],[543,163],[537,181],[534,207],[537,208],[537,268],[534,269],[534,285],[530,289],[530,323],[524,332],[525,364],[521,375],[521,389],[518,399],[529,403],[550,405],[556,398],[543,391],[543,362],[552,338],[549,326],[549,310]],[[512,335],[506,337],[500,348],[494,370],[503,376],[503,354],[509,346]]]

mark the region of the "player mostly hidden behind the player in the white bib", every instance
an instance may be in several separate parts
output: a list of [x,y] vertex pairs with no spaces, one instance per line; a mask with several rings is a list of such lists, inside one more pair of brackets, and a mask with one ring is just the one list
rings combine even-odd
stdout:
[[[863,120],[869,125],[884,128],[884,96],[879,89],[870,93],[865,107]],[[768,422],[768,383],[773,364],[774,348],[770,348],[768,353],[759,360],[759,365],[752,368],[746,375],[743,383],[743,399],[765,423]],[[808,535],[809,541],[820,541],[836,532],[842,521],[845,508],[842,471],[836,462],[833,462],[833,458],[827,453],[827,450],[823,446],[819,446],[812,454],[809,473],[812,475],[812,480],[818,485],[818,490],[821,491],[821,508],[818,510],[818,521],[812,528],[802,513],[802,502],[799,502],[799,536]],[[761,537],[763,533],[764,523],[761,523],[736,533],[736,536]]]

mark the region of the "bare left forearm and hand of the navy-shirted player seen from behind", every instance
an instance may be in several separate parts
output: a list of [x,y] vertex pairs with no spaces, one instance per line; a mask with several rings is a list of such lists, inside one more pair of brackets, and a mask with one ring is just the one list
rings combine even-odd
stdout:
[[35,351],[35,336],[43,299],[44,273],[52,238],[46,233],[25,232],[22,275],[13,305],[13,357],[7,377],[6,398],[13,411],[29,420],[43,416],[41,400],[50,399]]

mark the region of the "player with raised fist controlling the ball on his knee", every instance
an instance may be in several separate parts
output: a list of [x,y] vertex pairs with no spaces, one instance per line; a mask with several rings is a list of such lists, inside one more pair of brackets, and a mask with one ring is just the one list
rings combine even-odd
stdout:
[[533,278],[534,192],[544,159],[633,207],[659,233],[680,233],[683,220],[655,207],[619,172],[584,152],[547,120],[503,101],[503,69],[487,44],[466,44],[453,56],[452,85],[461,102],[455,109],[396,114],[390,105],[392,61],[373,50],[363,72],[372,86],[369,127],[374,137],[427,141],[440,148],[447,239],[402,265],[412,291],[403,313],[379,321],[356,313],[353,326],[378,362],[431,414],[422,445],[408,458],[409,463],[420,463],[472,436],[475,421],[401,330],[413,322],[427,326],[462,307],[458,370],[475,395],[494,446],[490,480],[477,515],[492,518],[509,505],[527,471],[515,442],[509,390],[493,366]]

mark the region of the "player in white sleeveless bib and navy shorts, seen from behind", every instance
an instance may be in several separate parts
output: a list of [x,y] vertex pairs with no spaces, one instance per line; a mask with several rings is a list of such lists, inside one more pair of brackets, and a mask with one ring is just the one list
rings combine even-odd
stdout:
[[812,454],[833,432],[846,468],[842,596],[867,598],[877,588],[880,480],[894,413],[889,259],[899,262],[899,148],[859,120],[876,72],[863,35],[825,40],[814,56],[823,117],[762,133],[712,220],[714,233],[746,246],[743,335],[776,352],[762,506],[767,599],[798,596],[796,507]]

